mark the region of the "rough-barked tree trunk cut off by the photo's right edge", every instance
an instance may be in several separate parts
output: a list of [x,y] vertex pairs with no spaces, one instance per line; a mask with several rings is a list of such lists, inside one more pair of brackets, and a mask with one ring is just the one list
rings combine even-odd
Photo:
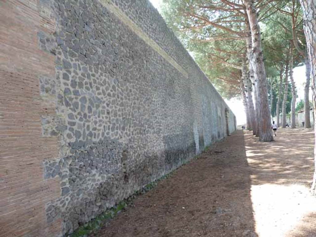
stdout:
[[[300,0],[303,9],[304,33],[306,37],[310,76],[312,78],[312,94],[314,117],[316,108],[316,2],[314,0]],[[316,123],[314,120],[314,128]],[[316,131],[316,129],[315,129]],[[316,133],[315,133],[316,135]],[[316,138],[316,136],[315,136]],[[311,192],[316,194],[316,139],[314,149],[314,177]]]

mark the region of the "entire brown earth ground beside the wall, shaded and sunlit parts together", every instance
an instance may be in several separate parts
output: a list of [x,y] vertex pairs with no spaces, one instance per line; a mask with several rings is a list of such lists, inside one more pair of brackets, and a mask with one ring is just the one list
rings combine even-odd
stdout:
[[313,131],[236,131],[134,200],[98,237],[315,237]]

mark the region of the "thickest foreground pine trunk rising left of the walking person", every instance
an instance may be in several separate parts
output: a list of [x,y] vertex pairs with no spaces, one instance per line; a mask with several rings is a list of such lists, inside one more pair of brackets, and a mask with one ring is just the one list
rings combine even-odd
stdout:
[[263,54],[261,49],[260,27],[257,19],[257,12],[253,6],[253,0],[245,0],[246,12],[251,29],[252,53],[251,63],[255,78],[255,87],[257,90],[256,110],[258,110],[257,125],[259,127],[259,141],[273,141],[269,100],[267,92],[267,78],[263,63]]

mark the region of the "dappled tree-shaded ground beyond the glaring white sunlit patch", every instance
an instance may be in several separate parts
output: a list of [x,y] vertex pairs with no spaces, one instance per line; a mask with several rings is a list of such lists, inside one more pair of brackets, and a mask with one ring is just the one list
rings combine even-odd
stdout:
[[259,143],[245,134],[252,184],[301,184],[310,186],[314,168],[313,130],[282,129],[272,143]]

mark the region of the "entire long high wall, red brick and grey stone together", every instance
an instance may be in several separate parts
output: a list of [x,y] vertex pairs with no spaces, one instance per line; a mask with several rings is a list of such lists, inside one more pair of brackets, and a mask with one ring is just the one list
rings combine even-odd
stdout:
[[147,0],[0,3],[0,236],[61,236],[235,130]]

